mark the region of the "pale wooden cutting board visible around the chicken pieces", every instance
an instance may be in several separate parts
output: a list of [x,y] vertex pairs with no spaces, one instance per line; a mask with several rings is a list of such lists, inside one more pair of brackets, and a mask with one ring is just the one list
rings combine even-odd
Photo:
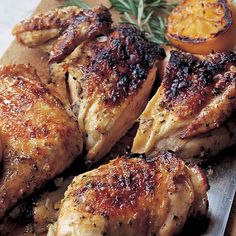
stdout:
[[[39,6],[37,7],[35,13],[45,12],[50,9],[56,8],[62,5],[63,2],[63,0],[42,0]],[[91,6],[101,3],[105,6],[110,6],[108,0],[86,0],[85,2],[87,2]],[[119,15],[113,12],[113,20],[116,22],[118,19]],[[14,63],[30,63],[38,70],[39,76],[43,82],[47,82],[49,79],[47,69],[47,55],[42,53],[40,50],[29,49],[27,47],[19,45],[16,41],[13,41],[10,47],[5,52],[5,54],[3,55],[3,57],[0,59],[0,64],[4,65]],[[233,209],[231,211],[225,235],[236,235],[236,199],[234,200]]]

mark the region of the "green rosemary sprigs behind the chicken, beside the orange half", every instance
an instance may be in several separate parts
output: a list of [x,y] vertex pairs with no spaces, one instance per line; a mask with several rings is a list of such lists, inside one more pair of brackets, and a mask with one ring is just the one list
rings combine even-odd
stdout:
[[[166,0],[109,0],[112,8],[121,14],[121,23],[136,25],[155,43],[168,43],[165,38],[166,15],[177,5]],[[88,8],[82,0],[68,0],[66,5]],[[163,16],[164,15],[164,16]]]

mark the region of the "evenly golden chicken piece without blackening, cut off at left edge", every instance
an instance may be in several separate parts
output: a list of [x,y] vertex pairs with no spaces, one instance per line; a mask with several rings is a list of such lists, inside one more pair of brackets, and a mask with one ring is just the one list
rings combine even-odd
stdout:
[[0,219],[81,153],[77,122],[28,65],[0,67]]

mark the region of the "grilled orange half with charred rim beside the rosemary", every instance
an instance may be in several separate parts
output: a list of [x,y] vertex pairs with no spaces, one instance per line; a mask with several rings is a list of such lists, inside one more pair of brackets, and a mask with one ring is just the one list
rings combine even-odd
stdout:
[[183,0],[168,17],[166,37],[196,54],[232,49],[236,44],[235,5],[227,0]]

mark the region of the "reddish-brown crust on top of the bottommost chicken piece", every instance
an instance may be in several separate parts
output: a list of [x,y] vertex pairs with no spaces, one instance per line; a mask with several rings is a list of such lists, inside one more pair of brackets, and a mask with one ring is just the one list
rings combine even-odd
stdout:
[[[107,218],[142,211],[140,206],[151,203],[157,191],[164,197],[166,184],[168,192],[174,193],[177,191],[176,183],[183,181],[182,178],[188,178],[184,162],[170,152],[163,152],[155,158],[146,158],[142,154],[120,156],[112,161],[112,165],[107,165],[107,168],[104,172],[98,169],[99,174],[93,178],[83,174],[83,187],[73,193],[75,204],[88,208],[92,214]],[[194,168],[207,190],[209,187],[205,174],[200,168]],[[90,197],[86,197],[89,195]],[[85,198],[82,204],[81,198]]]

